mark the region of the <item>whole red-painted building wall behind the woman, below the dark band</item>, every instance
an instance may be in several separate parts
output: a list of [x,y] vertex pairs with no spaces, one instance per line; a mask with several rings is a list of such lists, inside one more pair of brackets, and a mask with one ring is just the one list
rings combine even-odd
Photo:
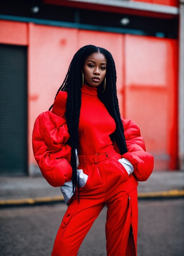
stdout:
[[140,126],[147,151],[156,156],[155,170],[177,168],[177,40],[9,21],[0,21],[1,27],[1,43],[28,45],[30,164],[36,164],[31,144],[36,117],[52,105],[74,53],[94,44],[114,57],[120,112]]

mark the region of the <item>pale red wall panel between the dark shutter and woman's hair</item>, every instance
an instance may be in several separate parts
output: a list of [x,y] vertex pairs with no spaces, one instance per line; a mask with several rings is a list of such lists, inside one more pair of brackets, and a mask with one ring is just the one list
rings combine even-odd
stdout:
[[76,51],[77,29],[29,24],[28,141],[31,166],[36,164],[31,143],[34,122],[54,102]]

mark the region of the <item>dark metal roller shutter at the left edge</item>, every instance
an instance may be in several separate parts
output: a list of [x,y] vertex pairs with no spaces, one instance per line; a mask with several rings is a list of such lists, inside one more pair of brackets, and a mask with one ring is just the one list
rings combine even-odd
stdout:
[[27,174],[27,47],[0,44],[0,174]]

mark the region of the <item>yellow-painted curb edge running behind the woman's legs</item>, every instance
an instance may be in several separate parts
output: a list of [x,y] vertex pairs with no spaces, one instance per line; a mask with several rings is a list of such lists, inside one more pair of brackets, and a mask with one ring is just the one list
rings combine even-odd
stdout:
[[[148,198],[174,198],[183,197],[184,190],[169,190],[160,192],[141,192],[138,193],[138,198],[148,199]],[[0,200],[0,207],[5,205],[35,205],[40,203],[54,203],[54,202],[64,201],[64,197],[61,196],[45,196],[37,198],[23,198],[23,199],[10,199],[10,200]]]

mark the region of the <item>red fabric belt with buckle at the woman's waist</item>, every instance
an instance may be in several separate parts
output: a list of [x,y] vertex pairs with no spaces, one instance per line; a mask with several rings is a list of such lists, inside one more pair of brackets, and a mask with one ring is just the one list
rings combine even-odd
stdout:
[[115,156],[117,152],[115,149],[111,149],[108,152],[102,153],[102,154],[95,154],[93,156],[78,156],[79,157],[79,163],[84,165],[92,165],[92,164],[98,164],[101,161],[104,161],[110,157]]

